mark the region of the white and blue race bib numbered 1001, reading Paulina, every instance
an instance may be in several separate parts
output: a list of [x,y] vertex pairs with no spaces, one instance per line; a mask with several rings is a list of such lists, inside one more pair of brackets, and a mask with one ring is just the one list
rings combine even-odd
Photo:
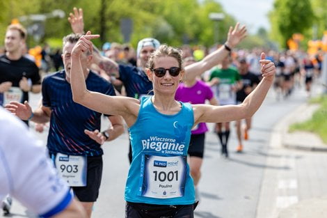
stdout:
[[184,196],[186,156],[143,155],[140,195],[150,198]]

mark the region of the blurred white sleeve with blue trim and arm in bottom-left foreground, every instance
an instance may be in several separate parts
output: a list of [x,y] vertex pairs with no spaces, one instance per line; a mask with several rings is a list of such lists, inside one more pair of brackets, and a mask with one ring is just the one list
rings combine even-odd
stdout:
[[1,113],[6,116],[0,116],[0,195],[4,190],[40,217],[85,217],[45,146],[20,120]]

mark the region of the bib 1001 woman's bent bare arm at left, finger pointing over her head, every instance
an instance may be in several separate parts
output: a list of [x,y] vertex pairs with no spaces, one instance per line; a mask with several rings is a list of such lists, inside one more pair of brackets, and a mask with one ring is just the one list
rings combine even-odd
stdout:
[[88,31],[85,36],[81,36],[72,49],[70,85],[72,86],[73,100],[102,114],[121,115],[125,118],[127,125],[129,125],[136,120],[139,108],[138,100],[122,96],[104,95],[86,89],[86,82],[82,70],[82,64],[85,63],[81,63],[80,57],[88,51],[93,52],[93,46],[90,40],[98,37],[99,35],[91,35],[90,31]]

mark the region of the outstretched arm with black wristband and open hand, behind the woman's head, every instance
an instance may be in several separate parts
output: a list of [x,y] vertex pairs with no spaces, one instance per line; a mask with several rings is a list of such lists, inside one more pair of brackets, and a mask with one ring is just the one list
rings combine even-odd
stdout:
[[193,80],[195,77],[200,76],[206,70],[210,70],[215,65],[218,65],[225,56],[230,52],[228,49],[233,49],[241,40],[246,37],[246,26],[239,28],[239,23],[233,28],[230,26],[228,31],[227,41],[215,52],[205,56],[202,61],[187,65],[185,67],[184,81]]

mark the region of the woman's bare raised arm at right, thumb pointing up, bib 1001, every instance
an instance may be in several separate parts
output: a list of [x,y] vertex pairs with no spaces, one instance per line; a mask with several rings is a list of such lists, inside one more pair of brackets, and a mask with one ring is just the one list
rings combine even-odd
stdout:
[[208,104],[195,104],[193,105],[195,123],[224,123],[253,116],[266,98],[266,93],[273,84],[276,73],[274,63],[266,60],[264,53],[261,54],[260,63],[263,79],[243,103],[216,107]]

